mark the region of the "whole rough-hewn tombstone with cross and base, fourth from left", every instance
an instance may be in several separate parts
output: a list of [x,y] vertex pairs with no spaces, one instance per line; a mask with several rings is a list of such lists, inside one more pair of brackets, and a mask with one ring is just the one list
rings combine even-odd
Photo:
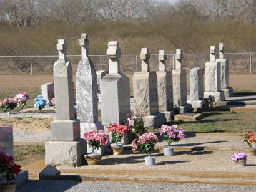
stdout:
[[134,73],[133,91],[137,115],[144,115],[145,127],[159,127],[166,122],[165,115],[159,112],[157,74],[150,71],[150,54],[147,48],[140,52],[141,72]]

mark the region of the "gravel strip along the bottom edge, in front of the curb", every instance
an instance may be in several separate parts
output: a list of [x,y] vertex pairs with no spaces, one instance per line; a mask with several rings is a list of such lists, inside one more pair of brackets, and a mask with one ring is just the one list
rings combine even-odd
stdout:
[[79,182],[69,180],[29,180],[16,192],[24,191],[256,191],[250,185],[177,185],[159,183]]

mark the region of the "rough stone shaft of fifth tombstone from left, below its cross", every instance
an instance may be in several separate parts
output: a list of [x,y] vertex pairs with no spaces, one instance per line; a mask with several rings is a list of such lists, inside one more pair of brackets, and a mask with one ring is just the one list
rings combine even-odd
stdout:
[[157,90],[159,112],[171,111],[174,106],[172,98],[172,72],[157,72]]

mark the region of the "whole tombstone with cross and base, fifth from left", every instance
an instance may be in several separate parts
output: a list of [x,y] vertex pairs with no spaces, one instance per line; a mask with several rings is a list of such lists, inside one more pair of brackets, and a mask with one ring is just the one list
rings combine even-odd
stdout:
[[157,71],[159,112],[164,113],[166,121],[170,122],[174,103],[172,98],[172,72],[166,71],[166,59],[165,50],[159,50],[159,71]]

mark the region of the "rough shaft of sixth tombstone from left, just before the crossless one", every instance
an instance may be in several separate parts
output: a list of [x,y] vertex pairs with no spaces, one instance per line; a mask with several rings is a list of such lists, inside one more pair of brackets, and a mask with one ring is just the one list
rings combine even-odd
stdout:
[[187,104],[187,75],[185,69],[172,70],[174,108]]

